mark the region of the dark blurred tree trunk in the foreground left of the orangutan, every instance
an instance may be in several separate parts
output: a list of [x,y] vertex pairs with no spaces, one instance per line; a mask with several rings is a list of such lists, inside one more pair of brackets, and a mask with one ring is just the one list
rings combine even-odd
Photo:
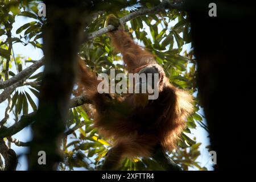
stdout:
[[[29,170],[56,170],[62,160],[61,138],[68,117],[69,100],[77,70],[85,6],[82,0],[71,3],[44,1],[47,4],[47,23],[43,28],[46,59],[39,107],[28,157]],[[47,134],[47,135],[46,135]],[[47,164],[38,164],[38,151],[45,151]]]

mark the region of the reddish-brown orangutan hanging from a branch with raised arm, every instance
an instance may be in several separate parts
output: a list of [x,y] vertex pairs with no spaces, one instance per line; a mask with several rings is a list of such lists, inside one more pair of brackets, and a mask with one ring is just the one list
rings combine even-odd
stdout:
[[153,85],[159,86],[156,100],[148,100],[147,93],[133,93],[117,99],[97,92],[100,81],[80,61],[80,89],[97,110],[94,126],[99,134],[114,140],[102,169],[113,170],[118,169],[122,158],[151,156],[158,145],[166,151],[173,150],[185,127],[185,119],[193,111],[193,104],[191,94],[170,84],[154,56],[133,42],[117,18],[110,16],[108,24],[117,27],[109,35],[114,47],[122,53],[127,71],[159,75],[158,85]]

